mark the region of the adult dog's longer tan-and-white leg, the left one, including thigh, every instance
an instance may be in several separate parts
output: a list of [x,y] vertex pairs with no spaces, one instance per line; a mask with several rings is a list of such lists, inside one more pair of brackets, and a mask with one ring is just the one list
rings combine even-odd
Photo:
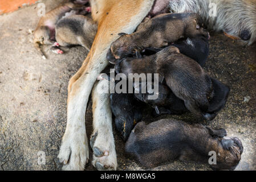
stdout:
[[[135,31],[151,10],[153,0],[92,0],[91,5],[93,17],[99,11],[97,17],[94,17],[99,25],[97,34],[89,55],[68,85],[67,127],[58,155],[60,162],[64,163],[63,169],[67,170],[83,170],[89,159],[85,125],[86,107],[97,76],[108,65],[106,55],[111,43],[119,38],[117,34],[120,32],[131,34]],[[106,111],[100,112],[105,113]],[[101,125],[97,130],[100,130],[100,127]],[[100,146],[101,144],[107,145],[100,143],[97,145],[99,149],[104,149],[104,146]],[[105,162],[109,162],[108,160],[99,160],[99,162],[104,167],[109,165],[109,163],[105,164]],[[116,167],[114,166],[114,168]]]

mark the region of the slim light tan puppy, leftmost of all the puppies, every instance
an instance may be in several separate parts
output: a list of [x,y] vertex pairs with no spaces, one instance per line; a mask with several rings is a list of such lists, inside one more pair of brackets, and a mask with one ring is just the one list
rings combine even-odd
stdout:
[[[62,6],[58,6],[55,9],[46,13],[45,16],[40,18],[38,25],[34,30],[34,46],[40,52],[43,59],[46,59],[46,56],[43,54],[40,49],[40,45],[44,44],[54,44],[55,42],[55,24],[63,16],[67,14],[76,14],[80,10],[83,10],[86,6],[75,4],[72,2],[64,3]],[[72,11],[74,10],[74,11]],[[58,46],[58,44],[56,45]]]

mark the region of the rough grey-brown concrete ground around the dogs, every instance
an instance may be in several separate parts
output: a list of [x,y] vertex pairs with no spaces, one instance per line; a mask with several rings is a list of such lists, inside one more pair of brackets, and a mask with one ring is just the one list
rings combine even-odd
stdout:
[[[60,0],[46,0],[47,11]],[[82,47],[65,49],[55,55],[44,47],[43,60],[32,45],[30,30],[39,17],[36,5],[0,16],[0,170],[58,170],[56,160],[67,115],[68,80],[79,69],[87,51]],[[229,85],[225,108],[211,122],[230,136],[241,139],[244,152],[237,170],[256,169],[256,47],[239,46],[222,34],[212,35],[206,72]],[[194,121],[192,114],[165,115]],[[159,119],[159,118],[156,118]],[[145,115],[144,120],[156,120]],[[87,134],[92,129],[91,102],[87,110]],[[119,170],[139,170],[125,157],[124,143],[115,133]],[[38,164],[38,154],[46,154],[46,164]],[[39,152],[39,153],[38,153]],[[87,169],[94,169],[91,163]],[[156,170],[208,170],[208,166],[172,162]]]

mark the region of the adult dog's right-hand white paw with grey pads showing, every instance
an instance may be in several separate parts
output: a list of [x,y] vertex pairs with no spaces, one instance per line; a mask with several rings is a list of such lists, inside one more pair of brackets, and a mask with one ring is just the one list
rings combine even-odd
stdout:
[[117,159],[113,136],[107,133],[92,134],[90,144],[93,151],[92,165],[97,170],[116,170]]

